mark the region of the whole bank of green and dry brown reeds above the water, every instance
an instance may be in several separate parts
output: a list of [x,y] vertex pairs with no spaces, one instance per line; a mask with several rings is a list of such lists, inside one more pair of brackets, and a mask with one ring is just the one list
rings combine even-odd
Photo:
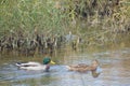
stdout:
[[1,0],[0,49],[51,53],[69,32],[78,37],[73,48],[79,39],[101,45],[129,34],[129,0]]

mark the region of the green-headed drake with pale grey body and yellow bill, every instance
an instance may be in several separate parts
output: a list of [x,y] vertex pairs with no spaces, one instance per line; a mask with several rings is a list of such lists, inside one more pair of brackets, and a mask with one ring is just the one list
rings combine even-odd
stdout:
[[35,61],[29,61],[29,62],[17,62],[16,66],[20,69],[25,69],[25,70],[44,70],[44,71],[49,71],[50,69],[50,64],[49,63],[55,63],[54,61],[52,61],[49,57],[46,57],[43,59],[43,64],[39,63],[39,62],[35,62]]

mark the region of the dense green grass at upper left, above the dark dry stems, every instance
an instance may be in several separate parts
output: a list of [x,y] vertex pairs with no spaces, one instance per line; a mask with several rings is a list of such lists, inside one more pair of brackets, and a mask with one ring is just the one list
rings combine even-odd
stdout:
[[[50,0],[2,0],[1,33],[23,29],[30,33],[35,29],[61,33],[63,18]],[[63,31],[63,29],[62,29]]]

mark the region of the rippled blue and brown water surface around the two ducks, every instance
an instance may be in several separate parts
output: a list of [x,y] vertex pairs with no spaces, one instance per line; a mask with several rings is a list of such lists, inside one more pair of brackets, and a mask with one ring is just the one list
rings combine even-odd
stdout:
[[[101,62],[102,73],[93,77],[91,72],[79,73],[66,69],[66,64]],[[20,70],[16,61],[36,60],[38,57],[2,57],[0,60],[0,86],[130,86],[130,48],[102,49],[95,52],[66,52],[58,54],[58,64],[50,72]]]

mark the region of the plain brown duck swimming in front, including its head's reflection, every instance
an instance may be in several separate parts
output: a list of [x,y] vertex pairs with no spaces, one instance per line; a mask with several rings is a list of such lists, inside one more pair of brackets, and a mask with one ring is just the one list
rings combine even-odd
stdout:
[[102,72],[102,69],[100,68],[100,62],[98,60],[93,60],[90,66],[86,63],[79,63],[79,64],[67,66],[67,69],[69,71],[78,71],[78,72],[91,71],[94,77]]

